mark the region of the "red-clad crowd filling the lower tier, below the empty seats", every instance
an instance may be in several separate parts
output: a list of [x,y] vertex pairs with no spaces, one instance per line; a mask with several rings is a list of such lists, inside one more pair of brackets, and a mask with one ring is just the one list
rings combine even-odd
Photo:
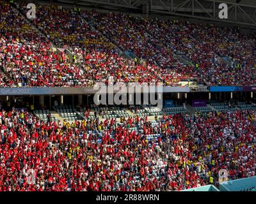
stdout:
[[[0,112],[0,191],[180,191],[255,175],[252,110],[47,123]],[[154,135],[152,137],[152,135]]]

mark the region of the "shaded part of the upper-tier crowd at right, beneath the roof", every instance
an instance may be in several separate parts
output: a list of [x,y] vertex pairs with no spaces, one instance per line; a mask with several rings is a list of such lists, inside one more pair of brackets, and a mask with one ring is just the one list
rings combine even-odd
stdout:
[[[120,48],[132,50],[164,68],[197,77],[198,82],[209,85],[255,84],[253,34],[214,25],[132,17],[125,13],[91,11],[88,18],[92,16],[92,24]],[[173,61],[173,52],[188,57],[188,64]],[[231,64],[225,64],[221,57],[228,57]],[[195,67],[191,68],[191,64]]]

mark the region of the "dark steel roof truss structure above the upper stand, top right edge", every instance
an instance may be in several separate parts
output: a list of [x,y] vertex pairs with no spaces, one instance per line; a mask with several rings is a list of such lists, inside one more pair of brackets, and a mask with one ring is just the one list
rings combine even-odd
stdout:
[[[109,10],[143,11],[143,13],[198,18],[256,28],[256,1],[251,0],[55,0],[55,2]],[[221,3],[227,4],[227,19],[219,18]]]

